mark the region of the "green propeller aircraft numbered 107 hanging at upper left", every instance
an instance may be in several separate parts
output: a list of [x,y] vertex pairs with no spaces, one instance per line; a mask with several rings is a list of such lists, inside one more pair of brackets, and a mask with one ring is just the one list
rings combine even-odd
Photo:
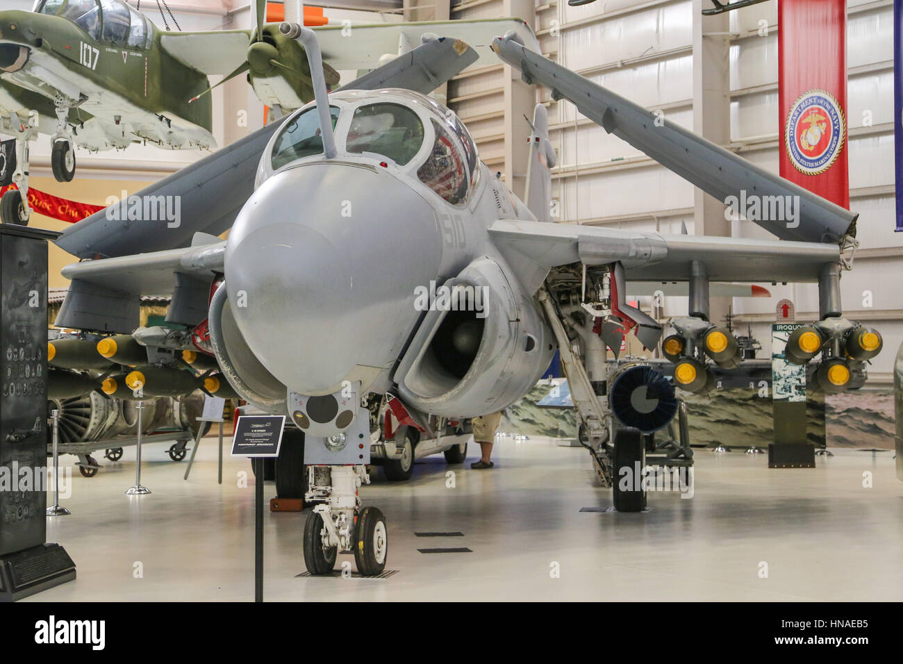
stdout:
[[[123,0],[38,0],[33,12],[0,11],[0,133],[16,138],[16,189],[0,200],[4,223],[27,224],[29,142],[51,136],[58,182],[75,176],[76,146],[89,152],[133,143],[209,149],[209,76],[242,74],[275,117],[313,99],[303,47],[265,23],[255,2],[251,30],[169,32]],[[372,69],[386,56],[419,45],[433,31],[484,46],[514,29],[534,41],[517,19],[325,25],[317,31],[327,83],[338,70]],[[215,86],[214,86],[215,87]]]

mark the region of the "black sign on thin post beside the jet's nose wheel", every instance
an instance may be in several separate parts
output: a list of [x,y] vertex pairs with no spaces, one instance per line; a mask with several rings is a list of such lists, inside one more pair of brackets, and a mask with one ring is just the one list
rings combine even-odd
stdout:
[[254,601],[264,601],[264,459],[279,456],[284,415],[243,415],[232,438],[232,456],[254,459]]

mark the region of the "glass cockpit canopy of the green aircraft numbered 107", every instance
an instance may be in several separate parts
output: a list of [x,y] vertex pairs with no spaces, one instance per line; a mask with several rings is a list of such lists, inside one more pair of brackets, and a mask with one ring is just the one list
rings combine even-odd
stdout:
[[65,18],[101,42],[135,49],[150,42],[151,24],[123,0],[43,0],[37,11]]

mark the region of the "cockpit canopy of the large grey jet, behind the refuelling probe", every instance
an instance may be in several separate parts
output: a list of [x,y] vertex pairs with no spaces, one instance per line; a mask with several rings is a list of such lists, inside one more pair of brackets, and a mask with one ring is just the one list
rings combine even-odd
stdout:
[[[479,176],[477,147],[448,108],[410,90],[347,90],[330,95],[330,117],[339,158],[360,154],[392,162],[452,205],[467,201]],[[311,104],[275,136],[257,183],[322,152],[320,119]]]

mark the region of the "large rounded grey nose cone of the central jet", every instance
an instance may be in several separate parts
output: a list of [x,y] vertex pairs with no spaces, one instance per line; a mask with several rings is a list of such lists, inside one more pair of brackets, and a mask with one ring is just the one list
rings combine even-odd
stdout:
[[441,242],[433,209],[387,173],[289,169],[255,192],[229,234],[229,304],[284,385],[335,391],[356,368],[391,366],[419,314],[414,287],[437,274]]

